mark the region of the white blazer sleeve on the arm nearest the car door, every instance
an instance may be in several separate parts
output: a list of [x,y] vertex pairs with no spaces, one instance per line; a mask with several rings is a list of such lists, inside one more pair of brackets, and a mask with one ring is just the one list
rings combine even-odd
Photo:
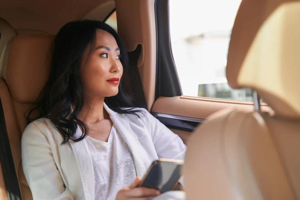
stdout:
[[184,160],[186,146],[182,139],[148,111],[146,113],[146,120],[158,157]]

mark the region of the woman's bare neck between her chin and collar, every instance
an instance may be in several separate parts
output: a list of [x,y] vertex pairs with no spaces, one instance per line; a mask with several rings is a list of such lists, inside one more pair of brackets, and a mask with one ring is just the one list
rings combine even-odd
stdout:
[[104,109],[103,99],[87,99],[78,118],[86,124],[95,124],[100,120],[109,118],[108,113]]

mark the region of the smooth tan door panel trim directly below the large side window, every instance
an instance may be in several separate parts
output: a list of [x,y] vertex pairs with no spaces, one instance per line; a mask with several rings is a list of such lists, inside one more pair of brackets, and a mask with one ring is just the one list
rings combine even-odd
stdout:
[[[206,119],[212,113],[228,107],[245,112],[254,110],[253,103],[249,102],[249,105],[245,103],[247,102],[236,101],[233,103],[231,100],[198,97],[159,97],[152,107],[152,112]],[[264,104],[262,104],[261,110],[269,112],[271,115],[274,114],[274,111]]]

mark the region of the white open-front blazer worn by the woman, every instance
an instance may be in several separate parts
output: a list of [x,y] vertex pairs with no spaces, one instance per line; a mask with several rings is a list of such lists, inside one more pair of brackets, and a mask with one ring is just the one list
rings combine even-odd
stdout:
[[[186,146],[182,140],[148,111],[138,118],[117,114],[105,104],[104,109],[128,144],[139,177],[158,158],[184,160]],[[79,128],[77,134],[81,135]],[[62,141],[46,118],[32,122],[24,130],[22,165],[33,199],[94,200],[94,170],[86,139],[64,145]]]

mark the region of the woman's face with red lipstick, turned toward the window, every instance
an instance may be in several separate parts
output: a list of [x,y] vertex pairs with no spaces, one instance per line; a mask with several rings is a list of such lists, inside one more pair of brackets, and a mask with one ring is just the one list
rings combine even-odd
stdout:
[[88,59],[89,49],[85,50],[80,69],[86,95],[91,98],[115,96],[123,74],[120,50],[115,38],[99,29],[96,31],[95,50]]

